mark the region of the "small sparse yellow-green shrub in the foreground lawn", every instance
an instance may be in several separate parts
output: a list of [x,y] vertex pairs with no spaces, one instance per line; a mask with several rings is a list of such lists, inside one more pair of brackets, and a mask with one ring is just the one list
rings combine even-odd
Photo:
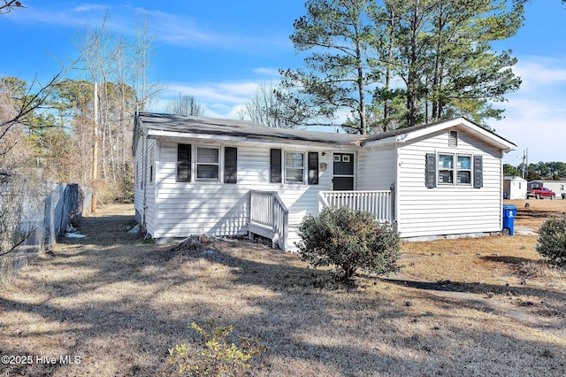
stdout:
[[249,368],[249,360],[267,350],[257,338],[240,337],[240,347],[226,342],[233,326],[215,327],[214,319],[207,321],[206,328],[195,322],[191,327],[201,335],[199,347],[190,349],[187,344],[178,344],[169,350],[169,362],[179,367],[180,374],[232,376]]

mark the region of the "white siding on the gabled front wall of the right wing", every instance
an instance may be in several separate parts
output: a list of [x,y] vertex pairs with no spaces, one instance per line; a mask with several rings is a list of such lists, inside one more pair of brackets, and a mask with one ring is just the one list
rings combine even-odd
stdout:
[[[397,220],[402,237],[466,235],[501,230],[501,152],[459,131],[448,147],[447,131],[399,148]],[[483,187],[442,184],[426,188],[427,153],[483,157]],[[457,168],[457,165],[455,166]],[[457,170],[457,169],[455,169]]]

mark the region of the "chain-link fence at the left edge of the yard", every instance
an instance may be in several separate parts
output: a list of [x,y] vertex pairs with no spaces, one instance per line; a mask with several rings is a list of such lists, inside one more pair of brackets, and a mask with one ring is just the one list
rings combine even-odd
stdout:
[[92,190],[78,184],[0,181],[0,280],[57,242],[88,213]]

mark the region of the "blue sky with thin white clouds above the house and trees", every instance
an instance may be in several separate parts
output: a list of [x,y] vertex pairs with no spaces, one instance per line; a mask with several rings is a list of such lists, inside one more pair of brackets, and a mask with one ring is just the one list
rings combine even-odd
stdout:
[[[234,118],[259,83],[279,80],[279,68],[302,57],[288,36],[304,14],[304,0],[95,1],[22,0],[26,8],[0,16],[0,76],[48,80],[78,56],[77,30],[98,27],[108,12],[110,30],[133,36],[149,16],[154,55],[150,81],[164,85],[155,111],[167,99],[190,94],[206,115]],[[523,85],[509,94],[495,131],[515,142],[504,162],[566,162],[566,8],[560,0],[532,0],[524,27],[496,50],[513,50]],[[80,73],[73,73],[80,74]]]

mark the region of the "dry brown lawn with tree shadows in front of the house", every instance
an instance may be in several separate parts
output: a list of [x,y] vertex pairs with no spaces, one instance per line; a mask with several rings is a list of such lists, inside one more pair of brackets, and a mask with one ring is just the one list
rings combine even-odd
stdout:
[[[529,202],[511,202],[516,225],[566,211]],[[61,239],[2,288],[0,354],[33,362],[0,375],[175,375],[168,349],[195,345],[188,325],[207,319],[270,348],[251,375],[566,374],[566,272],[536,236],[404,242],[401,273],[340,285],[261,244],[172,250],[127,235],[133,225],[131,206],[103,208],[87,238]]]

